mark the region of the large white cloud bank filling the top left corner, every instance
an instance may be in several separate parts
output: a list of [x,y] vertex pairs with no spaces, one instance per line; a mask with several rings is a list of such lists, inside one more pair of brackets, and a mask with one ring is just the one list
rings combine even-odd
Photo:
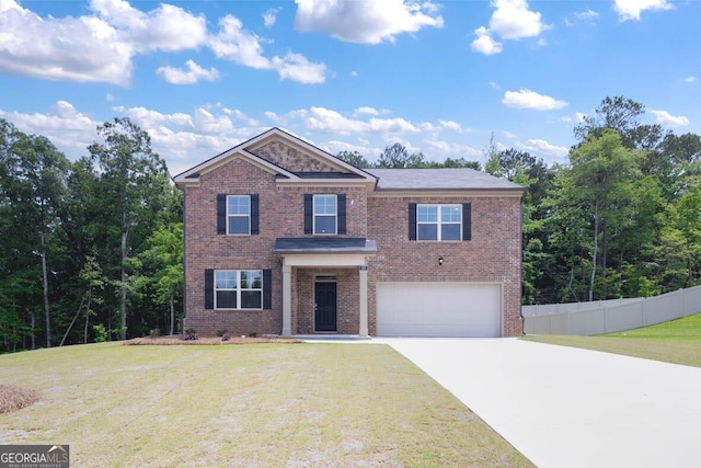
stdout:
[[48,80],[127,85],[137,54],[200,46],[206,21],[180,7],[142,12],[126,1],[92,0],[92,14],[42,18],[0,2],[0,71]]

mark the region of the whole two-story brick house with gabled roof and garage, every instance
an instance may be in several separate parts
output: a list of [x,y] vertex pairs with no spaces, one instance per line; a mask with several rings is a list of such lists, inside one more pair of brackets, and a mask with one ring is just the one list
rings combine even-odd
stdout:
[[278,128],[174,178],[184,328],[214,335],[520,335],[524,189],[361,170]]

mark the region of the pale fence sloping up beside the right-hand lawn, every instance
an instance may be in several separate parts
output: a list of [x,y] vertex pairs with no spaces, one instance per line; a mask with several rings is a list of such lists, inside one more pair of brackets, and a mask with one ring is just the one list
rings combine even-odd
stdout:
[[646,298],[521,307],[527,334],[613,333],[698,312],[701,286]]

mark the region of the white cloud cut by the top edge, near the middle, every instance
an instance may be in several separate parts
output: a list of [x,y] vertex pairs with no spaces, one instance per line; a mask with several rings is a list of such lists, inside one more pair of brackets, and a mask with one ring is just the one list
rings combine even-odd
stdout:
[[295,26],[302,32],[323,32],[341,41],[379,44],[425,26],[443,27],[437,5],[404,0],[295,0]]

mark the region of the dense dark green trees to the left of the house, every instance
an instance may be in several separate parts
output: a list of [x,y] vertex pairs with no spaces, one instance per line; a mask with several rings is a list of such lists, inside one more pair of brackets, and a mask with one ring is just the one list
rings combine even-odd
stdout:
[[128,118],[70,162],[0,119],[0,352],[169,333],[182,195]]

